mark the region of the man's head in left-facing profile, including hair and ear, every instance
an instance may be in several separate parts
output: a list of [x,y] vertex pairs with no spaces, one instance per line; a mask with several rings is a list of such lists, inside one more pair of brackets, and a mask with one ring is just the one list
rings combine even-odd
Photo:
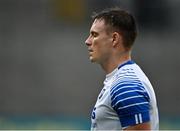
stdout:
[[111,8],[95,13],[90,35],[86,44],[90,60],[101,63],[110,59],[113,49],[130,51],[137,35],[133,16],[119,8]]

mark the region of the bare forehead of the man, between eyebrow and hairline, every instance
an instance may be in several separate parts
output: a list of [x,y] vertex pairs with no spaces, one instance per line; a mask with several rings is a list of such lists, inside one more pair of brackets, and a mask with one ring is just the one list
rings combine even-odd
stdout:
[[94,32],[103,32],[105,30],[106,30],[106,25],[103,19],[95,19],[90,29],[90,31],[94,31]]

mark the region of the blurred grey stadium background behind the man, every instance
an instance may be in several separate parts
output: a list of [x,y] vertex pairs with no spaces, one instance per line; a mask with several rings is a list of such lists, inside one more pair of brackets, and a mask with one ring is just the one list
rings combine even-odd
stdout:
[[90,128],[105,74],[84,43],[91,14],[132,12],[133,59],[157,95],[160,129],[180,129],[179,0],[0,0],[0,129]]

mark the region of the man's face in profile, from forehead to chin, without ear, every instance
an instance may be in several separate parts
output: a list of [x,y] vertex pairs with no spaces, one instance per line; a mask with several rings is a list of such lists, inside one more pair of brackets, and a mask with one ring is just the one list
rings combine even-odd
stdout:
[[91,62],[102,64],[110,59],[112,49],[112,36],[107,33],[104,20],[95,20],[90,29],[90,35],[85,41],[88,46]]

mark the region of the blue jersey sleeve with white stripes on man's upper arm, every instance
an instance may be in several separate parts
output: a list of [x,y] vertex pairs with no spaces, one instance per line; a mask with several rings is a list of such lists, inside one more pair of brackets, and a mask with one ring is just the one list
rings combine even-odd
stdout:
[[150,121],[150,99],[138,80],[121,81],[110,91],[111,106],[123,128]]

